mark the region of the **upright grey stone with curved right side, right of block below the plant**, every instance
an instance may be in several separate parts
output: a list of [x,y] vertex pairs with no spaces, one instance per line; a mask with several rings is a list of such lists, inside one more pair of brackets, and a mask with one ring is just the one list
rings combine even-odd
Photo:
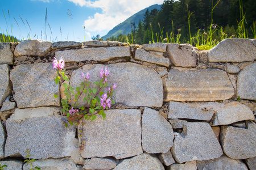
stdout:
[[163,116],[150,108],[142,114],[142,148],[149,154],[166,153],[173,145],[174,131]]

